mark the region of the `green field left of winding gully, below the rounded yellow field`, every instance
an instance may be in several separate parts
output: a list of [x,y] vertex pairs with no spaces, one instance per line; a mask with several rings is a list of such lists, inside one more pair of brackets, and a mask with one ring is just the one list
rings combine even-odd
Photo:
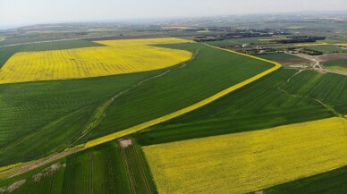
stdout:
[[0,85],[0,166],[69,147],[103,119],[112,97],[160,73]]

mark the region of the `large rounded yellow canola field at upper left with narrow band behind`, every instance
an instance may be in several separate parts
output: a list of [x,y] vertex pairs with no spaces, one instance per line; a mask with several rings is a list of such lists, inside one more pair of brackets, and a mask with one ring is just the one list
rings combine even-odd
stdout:
[[156,44],[189,42],[180,38],[98,41],[106,46],[13,55],[0,70],[0,84],[33,80],[68,80],[145,72],[182,63],[191,53]]

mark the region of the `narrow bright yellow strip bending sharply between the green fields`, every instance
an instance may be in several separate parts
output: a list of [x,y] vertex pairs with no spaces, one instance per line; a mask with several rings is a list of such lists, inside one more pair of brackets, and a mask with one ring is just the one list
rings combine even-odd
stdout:
[[[208,46],[208,45],[207,45]],[[206,99],[202,100],[202,101],[199,101],[198,103],[194,104],[194,105],[190,105],[188,107],[185,107],[179,111],[176,111],[172,114],[167,114],[165,116],[162,116],[162,117],[159,117],[157,119],[154,119],[154,120],[151,120],[151,121],[148,121],[148,122],[144,122],[144,123],[141,123],[140,125],[136,125],[136,126],[133,126],[131,128],[128,128],[126,130],[123,130],[123,131],[118,131],[118,132],[115,132],[113,134],[109,134],[109,135],[106,135],[102,138],[98,138],[98,139],[93,139],[93,140],[90,140],[88,141],[84,147],[85,148],[90,148],[90,147],[94,147],[94,146],[97,146],[99,144],[102,144],[102,143],[105,143],[107,141],[111,141],[113,139],[119,139],[119,138],[122,138],[123,136],[126,136],[126,135],[130,135],[131,133],[134,133],[134,132],[137,132],[137,131],[141,131],[141,130],[144,130],[150,126],[153,126],[153,125],[156,125],[158,123],[161,123],[161,122],[165,122],[165,121],[168,121],[168,120],[171,120],[175,117],[178,117],[182,114],[186,114],[186,113],[189,113],[190,111],[193,111],[193,110],[196,110],[198,109],[199,107],[202,107],[204,105],[207,105],[217,99],[219,99],[220,97],[224,97],[225,95],[233,92],[234,90],[236,89],[240,89],[241,87],[245,86],[245,85],[248,85],[250,84],[251,82],[255,81],[255,80],[258,80],[264,76],[266,76],[267,74],[271,73],[271,72],[275,72],[277,69],[281,68],[281,64],[280,63],[276,63],[276,62],[272,62],[272,61],[269,61],[267,59],[263,59],[263,58],[259,58],[257,56],[253,56],[253,55],[247,55],[247,54],[242,54],[242,53],[239,53],[239,52],[235,52],[235,51],[232,51],[232,50],[228,50],[228,49],[224,49],[224,48],[219,48],[219,47],[216,47],[216,46],[211,46],[211,47],[214,47],[216,49],[221,49],[221,50],[224,50],[224,51],[227,51],[227,52],[231,52],[233,54],[237,54],[237,55],[244,55],[244,56],[248,56],[250,58],[254,58],[254,59],[257,59],[257,60],[260,60],[260,61],[263,61],[263,62],[267,62],[267,63],[273,63],[275,66],[268,69],[267,71],[265,72],[261,72],[259,73],[258,75],[254,76],[254,77],[251,77],[250,79],[248,80],[244,80],[244,81],[241,81],[240,83],[238,84],[235,84],[233,85],[232,87],[228,88],[228,89],[224,89],[218,93],[216,93],[216,95],[213,95],[211,97],[207,97]],[[78,146],[80,147],[80,146]]]

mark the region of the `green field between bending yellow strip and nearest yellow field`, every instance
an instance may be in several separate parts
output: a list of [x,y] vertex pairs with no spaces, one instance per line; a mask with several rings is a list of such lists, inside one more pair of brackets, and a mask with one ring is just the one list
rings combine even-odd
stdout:
[[[312,71],[296,73],[298,70],[278,70],[209,105],[140,131],[134,134],[134,137],[139,140],[140,145],[152,145],[267,129],[334,116],[333,111],[312,97],[335,107],[335,111],[340,114],[347,113],[347,93],[343,89],[347,79],[344,76]],[[319,78],[314,79],[315,76]],[[308,80],[317,82],[302,84],[309,82]],[[311,92],[308,93],[309,91]]]

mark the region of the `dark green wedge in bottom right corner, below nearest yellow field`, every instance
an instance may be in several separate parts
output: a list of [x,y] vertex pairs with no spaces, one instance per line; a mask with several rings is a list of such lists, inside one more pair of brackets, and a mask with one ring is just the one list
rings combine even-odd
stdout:
[[[308,178],[275,185],[264,190],[267,194],[306,194],[306,193],[346,193],[347,192],[347,166],[319,173]],[[253,192],[252,192],[253,193]]]

